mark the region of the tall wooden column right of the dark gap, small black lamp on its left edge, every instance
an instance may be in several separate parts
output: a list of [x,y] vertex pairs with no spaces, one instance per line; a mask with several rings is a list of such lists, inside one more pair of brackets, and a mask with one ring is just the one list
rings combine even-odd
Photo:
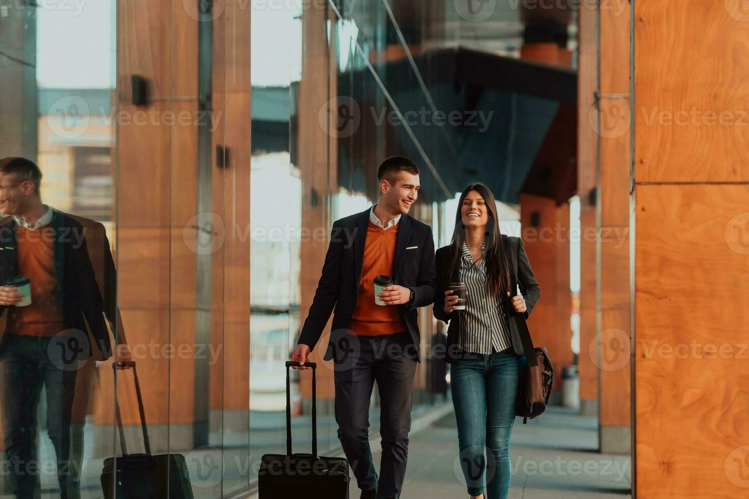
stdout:
[[221,360],[210,367],[210,408],[231,432],[249,429],[250,15],[227,0],[213,26],[213,146],[228,153],[223,166],[213,154],[213,212],[224,241],[211,273],[211,343]]

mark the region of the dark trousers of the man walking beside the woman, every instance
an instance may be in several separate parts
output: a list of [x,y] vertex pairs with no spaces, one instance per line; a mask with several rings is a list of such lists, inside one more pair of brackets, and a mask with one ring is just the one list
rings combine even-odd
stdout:
[[[336,341],[338,437],[362,490],[377,487],[377,498],[399,498],[406,473],[408,432],[416,374],[416,346],[407,332],[378,337],[345,334]],[[382,456],[377,478],[369,448],[369,399],[380,394]]]

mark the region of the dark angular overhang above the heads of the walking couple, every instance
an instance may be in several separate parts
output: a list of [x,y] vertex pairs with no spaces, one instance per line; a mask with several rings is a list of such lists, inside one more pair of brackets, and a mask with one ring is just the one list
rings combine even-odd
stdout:
[[[389,99],[369,68],[339,75],[339,94],[352,97],[361,114],[357,132],[339,140],[341,186],[377,193],[377,161],[359,153],[371,149],[361,144],[375,141],[384,126],[383,157],[415,159],[430,202],[452,198],[476,181],[505,203],[518,203],[521,192],[557,203],[574,195],[574,70],[462,48],[424,52],[413,62],[428,93],[407,58],[374,66]],[[440,112],[459,118],[435,120]],[[407,124],[383,116],[402,116]]]

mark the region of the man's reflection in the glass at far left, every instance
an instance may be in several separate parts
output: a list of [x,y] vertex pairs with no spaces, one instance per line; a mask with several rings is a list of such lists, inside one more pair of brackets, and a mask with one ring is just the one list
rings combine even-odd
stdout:
[[[45,391],[60,498],[67,499],[79,497],[78,475],[70,471],[77,371],[91,355],[109,358],[112,347],[83,226],[42,203],[41,180],[28,159],[0,160],[0,212],[12,217],[0,226],[4,465],[16,498],[39,497],[40,474],[27,470],[40,465],[37,411]],[[11,284],[19,277],[28,284],[30,303]]]

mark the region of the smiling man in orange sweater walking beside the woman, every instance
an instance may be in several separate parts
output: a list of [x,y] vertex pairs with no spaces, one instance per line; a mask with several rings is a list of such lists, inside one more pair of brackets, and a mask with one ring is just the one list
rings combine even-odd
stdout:
[[[333,223],[318,289],[292,361],[306,362],[333,312],[324,360],[333,359],[336,422],[362,498],[398,498],[408,453],[413,378],[419,362],[417,307],[437,293],[434,239],[408,211],[419,195],[419,167],[392,156],[377,170],[380,198]],[[353,236],[354,244],[345,245]],[[375,301],[374,280],[392,278]],[[309,367],[301,367],[309,369]],[[380,392],[382,458],[377,477],[369,448],[369,399]]]

